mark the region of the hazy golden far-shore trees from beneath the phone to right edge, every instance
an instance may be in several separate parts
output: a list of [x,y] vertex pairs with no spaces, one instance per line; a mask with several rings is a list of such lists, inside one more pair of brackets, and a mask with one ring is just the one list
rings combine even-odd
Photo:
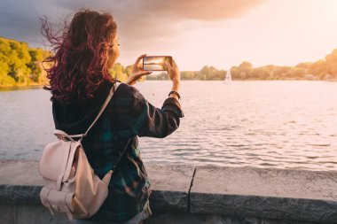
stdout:
[[[200,71],[183,71],[182,80],[223,81],[228,71],[218,70],[214,66],[203,66]],[[232,80],[322,80],[337,81],[337,49],[316,62],[300,63],[297,66],[259,66],[243,61],[239,66],[231,67]],[[147,80],[167,80],[167,73],[146,77]]]

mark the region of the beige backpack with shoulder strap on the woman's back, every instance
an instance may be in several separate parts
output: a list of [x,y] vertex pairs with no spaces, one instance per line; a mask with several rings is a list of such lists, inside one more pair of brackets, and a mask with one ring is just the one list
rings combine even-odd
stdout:
[[[59,141],[45,146],[39,166],[45,182],[40,198],[51,214],[67,212],[70,220],[85,219],[98,212],[105,201],[113,171],[110,170],[100,180],[88,162],[81,141],[105,110],[118,85],[118,82],[114,84],[85,134],[67,135],[64,131],[55,130],[54,135],[58,136]],[[75,137],[80,139],[74,141]]]

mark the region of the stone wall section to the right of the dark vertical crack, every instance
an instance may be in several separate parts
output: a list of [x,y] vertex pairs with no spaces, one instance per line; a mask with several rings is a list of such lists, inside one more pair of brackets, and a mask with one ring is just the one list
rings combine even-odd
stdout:
[[191,212],[337,223],[337,172],[197,166]]

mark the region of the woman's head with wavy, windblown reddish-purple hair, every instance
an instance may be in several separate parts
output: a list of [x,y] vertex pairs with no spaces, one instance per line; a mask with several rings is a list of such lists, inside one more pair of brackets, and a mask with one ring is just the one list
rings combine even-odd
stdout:
[[61,35],[51,34],[43,19],[43,35],[51,42],[52,54],[45,62],[51,99],[62,103],[83,102],[94,97],[102,81],[113,81],[108,69],[119,57],[117,26],[108,13],[82,10],[66,24]]

